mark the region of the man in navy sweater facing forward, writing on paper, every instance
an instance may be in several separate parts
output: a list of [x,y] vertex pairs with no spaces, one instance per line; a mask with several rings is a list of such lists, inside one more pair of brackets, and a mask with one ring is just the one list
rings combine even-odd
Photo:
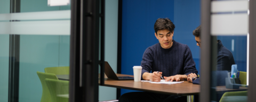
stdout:
[[[172,39],[174,28],[168,18],[156,20],[154,29],[159,43],[148,47],[142,56],[142,80],[159,82],[164,76],[165,81],[182,81],[187,80],[188,74],[197,73],[189,47]],[[187,97],[129,92],[122,95],[119,101],[187,101]]]

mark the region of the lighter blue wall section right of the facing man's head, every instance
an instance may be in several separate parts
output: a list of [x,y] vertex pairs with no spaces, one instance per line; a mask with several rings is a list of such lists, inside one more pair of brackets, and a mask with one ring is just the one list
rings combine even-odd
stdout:
[[186,44],[191,50],[196,69],[200,74],[200,48],[196,45],[193,30],[200,25],[200,0],[174,1],[174,40]]

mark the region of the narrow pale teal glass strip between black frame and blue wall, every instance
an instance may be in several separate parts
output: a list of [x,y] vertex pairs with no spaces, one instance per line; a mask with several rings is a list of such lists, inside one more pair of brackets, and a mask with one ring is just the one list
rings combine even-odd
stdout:
[[[103,0],[102,0],[103,1]],[[100,1],[100,7],[102,1]],[[105,27],[105,37],[102,37],[100,35],[100,48],[99,48],[99,60],[101,58],[105,58],[104,61],[108,62],[110,67],[113,69],[115,73],[117,73],[117,29],[118,29],[118,0],[114,1],[105,1],[105,10],[102,12],[102,9],[100,8],[100,14],[105,13],[105,22],[101,22],[103,20],[102,17],[100,17],[100,33],[101,27]],[[102,26],[102,24],[104,26]],[[103,43],[101,43],[101,39],[104,39]],[[101,46],[102,44],[105,45],[104,52],[105,56],[101,56]],[[99,74],[100,74],[100,69],[101,66],[99,66]],[[107,78],[106,74],[105,78]],[[117,95],[117,88],[113,87],[105,87],[105,86],[99,86],[99,101],[106,101],[106,100],[116,100],[116,95]]]

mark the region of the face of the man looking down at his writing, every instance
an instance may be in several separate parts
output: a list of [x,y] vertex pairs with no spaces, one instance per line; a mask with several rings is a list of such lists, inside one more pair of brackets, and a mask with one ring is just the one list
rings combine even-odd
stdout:
[[161,44],[162,48],[167,49],[172,47],[173,32],[167,29],[158,30],[157,35],[155,33],[155,36],[158,39],[159,43]]

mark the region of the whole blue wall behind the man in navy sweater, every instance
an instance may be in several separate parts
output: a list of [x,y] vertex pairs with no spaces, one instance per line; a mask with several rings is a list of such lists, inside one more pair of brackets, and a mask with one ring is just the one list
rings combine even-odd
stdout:
[[[123,0],[122,74],[133,75],[132,67],[140,65],[145,49],[158,43],[154,35],[158,18],[170,18],[175,24],[173,39],[190,47],[199,70],[200,49],[192,34],[200,24],[199,0]],[[121,95],[131,91],[121,89]]]

